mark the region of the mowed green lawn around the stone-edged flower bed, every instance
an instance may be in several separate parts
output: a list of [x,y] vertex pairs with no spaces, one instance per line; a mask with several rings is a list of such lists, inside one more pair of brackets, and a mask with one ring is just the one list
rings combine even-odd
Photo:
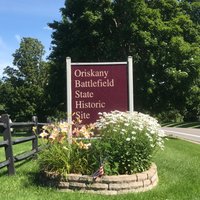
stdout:
[[[0,158],[2,154],[0,152]],[[1,161],[1,159],[0,159]],[[164,151],[154,156],[158,186],[148,192],[103,196],[80,192],[59,192],[38,182],[36,160],[16,164],[16,175],[0,169],[0,199],[4,200],[200,200],[200,145],[169,139]]]

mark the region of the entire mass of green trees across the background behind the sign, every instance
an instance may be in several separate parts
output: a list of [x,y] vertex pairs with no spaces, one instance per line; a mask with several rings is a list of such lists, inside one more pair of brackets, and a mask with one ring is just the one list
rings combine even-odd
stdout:
[[[15,119],[63,115],[65,59],[134,61],[135,109],[164,121],[200,116],[199,0],[66,0],[52,51],[23,38],[0,82],[0,109]],[[2,112],[3,112],[2,111]]]

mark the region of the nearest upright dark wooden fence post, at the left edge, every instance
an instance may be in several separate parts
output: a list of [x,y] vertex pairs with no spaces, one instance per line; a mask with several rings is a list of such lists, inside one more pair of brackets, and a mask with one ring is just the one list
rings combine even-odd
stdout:
[[8,141],[8,145],[5,147],[5,156],[6,160],[9,161],[8,168],[8,175],[14,175],[15,174],[15,165],[14,165],[14,156],[13,156],[13,148],[12,148],[12,137],[11,137],[11,131],[10,131],[10,119],[8,114],[3,114],[1,117],[2,122],[4,123],[4,132],[3,132],[3,138],[4,141]]

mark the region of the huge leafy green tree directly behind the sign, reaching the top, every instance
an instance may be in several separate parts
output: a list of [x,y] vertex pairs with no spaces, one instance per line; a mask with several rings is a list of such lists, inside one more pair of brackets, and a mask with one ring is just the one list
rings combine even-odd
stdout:
[[[137,110],[199,116],[200,26],[197,1],[67,0],[50,23],[52,102],[65,110],[65,57],[134,60]],[[171,115],[171,114],[170,114]],[[162,117],[161,117],[162,118]]]

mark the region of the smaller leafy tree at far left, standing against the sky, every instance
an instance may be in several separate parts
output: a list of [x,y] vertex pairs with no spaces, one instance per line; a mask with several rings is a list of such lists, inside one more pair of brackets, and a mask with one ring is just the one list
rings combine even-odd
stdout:
[[4,69],[0,98],[5,112],[16,120],[44,118],[45,87],[48,83],[48,64],[42,60],[44,46],[34,38],[22,38],[20,47],[13,54],[15,68]]

